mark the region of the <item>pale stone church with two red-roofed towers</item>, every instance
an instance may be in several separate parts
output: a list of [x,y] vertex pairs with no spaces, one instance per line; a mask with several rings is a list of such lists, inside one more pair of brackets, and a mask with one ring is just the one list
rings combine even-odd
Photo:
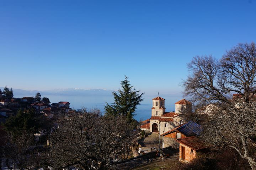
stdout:
[[152,99],[150,132],[163,134],[185,123],[183,114],[191,113],[192,104],[182,99],[175,103],[175,112],[165,112],[165,99],[156,97]]

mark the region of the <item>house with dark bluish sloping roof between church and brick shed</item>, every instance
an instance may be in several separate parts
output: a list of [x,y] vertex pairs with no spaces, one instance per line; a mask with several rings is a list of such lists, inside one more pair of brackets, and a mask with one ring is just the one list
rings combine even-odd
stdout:
[[189,121],[183,125],[177,126],[172,130],[163,133],[162,138],[162,148],[173,147],[178,148],[178,143],[176,139],[185,138],[190,136],[198,136],[202,132],[201,125],[196,122]]

